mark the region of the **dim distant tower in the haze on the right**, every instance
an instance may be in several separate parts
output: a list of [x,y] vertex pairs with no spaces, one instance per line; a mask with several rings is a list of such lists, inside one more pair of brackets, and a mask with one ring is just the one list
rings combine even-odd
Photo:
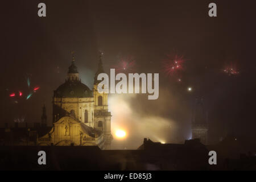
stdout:
[[208,121],[203,106],[203,98],[196,98],[195,111],[192,119],[192,139],[199,138],[201,143],[207,144]]

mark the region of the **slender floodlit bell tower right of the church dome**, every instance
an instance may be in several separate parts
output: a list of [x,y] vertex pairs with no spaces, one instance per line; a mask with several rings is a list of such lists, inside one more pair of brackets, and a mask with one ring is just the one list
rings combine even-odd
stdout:
[[112,140],[111,135],[111,114],[108,110],[108,94],[98,92],[98,84],[101,80],[97,80],[100,73],[105,73],[102,65],[102,55],[100,52],[100,60],[98,63],[98,69],[94,77],[93,85],[93,96],[94,96],[94,127],[96,129],[103,131],[106,147],[105,149],[110,149],[110,144]]

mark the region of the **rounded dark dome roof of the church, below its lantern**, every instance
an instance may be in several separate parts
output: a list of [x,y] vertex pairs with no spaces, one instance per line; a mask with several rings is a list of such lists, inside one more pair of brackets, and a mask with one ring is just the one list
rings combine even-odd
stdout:
[[54,91],[54,97],[93,97],[93,92],[80,81],[66,81]]

